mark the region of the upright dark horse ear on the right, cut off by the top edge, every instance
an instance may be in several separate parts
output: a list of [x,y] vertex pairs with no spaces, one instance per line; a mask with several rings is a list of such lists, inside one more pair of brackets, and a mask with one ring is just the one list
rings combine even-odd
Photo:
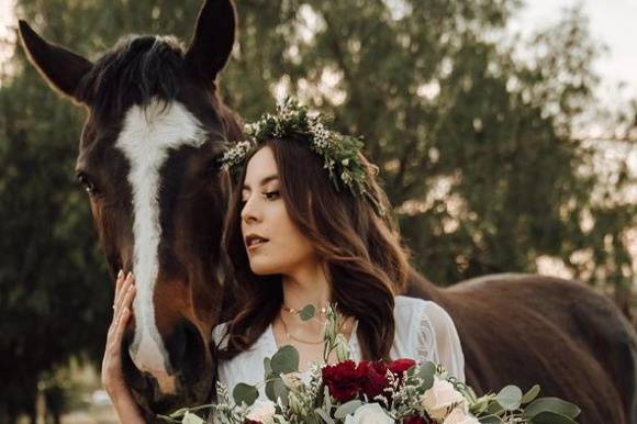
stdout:
[[231,0],[206,0],[199,12],[188,67],[197,78],[214,82],[225,66],[235,41],[236,12]]

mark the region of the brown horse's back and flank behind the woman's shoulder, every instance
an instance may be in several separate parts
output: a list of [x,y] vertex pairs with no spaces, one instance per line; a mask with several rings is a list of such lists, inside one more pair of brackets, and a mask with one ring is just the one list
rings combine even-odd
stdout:
[[407,294],[452,316],[478,391],[539,383],[543,395],[582,408],[582,423],[635,423],[637,336],[606,298],[582,283],[491,275],[435,288],[412,275]]

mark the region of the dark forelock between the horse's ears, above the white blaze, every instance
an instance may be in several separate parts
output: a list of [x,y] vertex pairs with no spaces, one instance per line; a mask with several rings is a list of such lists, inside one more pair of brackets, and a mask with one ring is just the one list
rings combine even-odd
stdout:
[[104,53],[83,77],[78,98],[121,115],[131,105],[165,102],[180,91],[185,49],[175,37],[130,35]]

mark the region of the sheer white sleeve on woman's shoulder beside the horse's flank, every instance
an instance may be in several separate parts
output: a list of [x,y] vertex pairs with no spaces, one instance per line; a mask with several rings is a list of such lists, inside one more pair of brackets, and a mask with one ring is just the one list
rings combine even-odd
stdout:
[[[465,381],[465,355],[451,316],[440,305],[427,302],[418,333],[418,356],[440,364],[460,381]],[[422,360],[421,359],[421,360]]]

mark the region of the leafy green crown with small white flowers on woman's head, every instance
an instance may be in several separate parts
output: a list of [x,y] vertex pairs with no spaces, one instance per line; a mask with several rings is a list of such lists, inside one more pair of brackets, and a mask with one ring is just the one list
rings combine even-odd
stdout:
[[221,158],[221,168],[231,170],[244,164],[246,158],[262,143],[276,140],[302,140],[323,158],[323,168],[336,190],[346,187],[354,196],[362,196],[371,202],[379,215],[383,207],[370,193],[367,172],[378,172],[378,167],[362,164],[359,152],[364,146],[360,138],[344,135],[326,127],[326,118],[310,115],[308,108],[294,98],[277,104],[276,114],[266,113],[253,123],[244,125],[246,140],[230,146]]

